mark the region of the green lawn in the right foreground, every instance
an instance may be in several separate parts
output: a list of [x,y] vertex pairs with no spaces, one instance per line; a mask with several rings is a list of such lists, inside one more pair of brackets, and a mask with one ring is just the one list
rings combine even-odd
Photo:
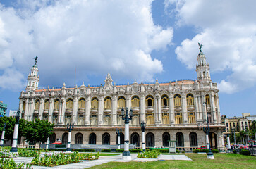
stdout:
[[[179,155],[179,154],[176,154]],[[91,169],[100,168],[256,168],[255,156],[240,154],[214,154],[214,160],[207,159],[207,154],[180,154],[186,155],[193,161],[148,161],[128,163],[109,162],[97,165]]]

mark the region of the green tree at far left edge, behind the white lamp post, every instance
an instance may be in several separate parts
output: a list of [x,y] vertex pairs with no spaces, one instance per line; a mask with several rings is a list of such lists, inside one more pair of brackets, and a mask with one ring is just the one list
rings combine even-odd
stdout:
[[[1,117],[0,118],[0,136],[2,134],[4,123],[6,123],[6,132],[4,134],[4,139],[12,140],[13,139],[13,132],[14,132],[14,125],[15,125],[16,118],[13,117]],[[24,120],[23,118],[19,121],[19,127],[18,127],[18,138],[23,136],[23,130],[24,126],[28,123],[27,120]]]

